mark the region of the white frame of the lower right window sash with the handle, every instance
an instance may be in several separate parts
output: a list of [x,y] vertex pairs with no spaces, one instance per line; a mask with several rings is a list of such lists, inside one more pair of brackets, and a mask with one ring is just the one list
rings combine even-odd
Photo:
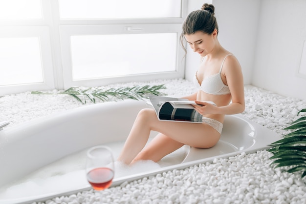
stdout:
[[[131,28],[128,31],[127,28]],[[133,30],[133,28],[135,30]],[[177,35],[177,51],[176,51],[176,68],[175,71],[155,72],[145,74],[134,74],[129,76],[105,77],[99,79],[88,79],[73,81],[70,37],[83,35],[109,35],[109,34],[145,34],[145,33],[176,33]],[[60,36],[62,45],[63,59],[63,78],[64,87],[72,86],[101,86],[109,83],[119,82],[139,82],[154,79],[175,79],[184,77],[184,52],[180,49],[179,35],[181,32],[181,24],[110,24],[110,25],[68,25],[60,26]],[[94,33],[94,34],[93,34]]]

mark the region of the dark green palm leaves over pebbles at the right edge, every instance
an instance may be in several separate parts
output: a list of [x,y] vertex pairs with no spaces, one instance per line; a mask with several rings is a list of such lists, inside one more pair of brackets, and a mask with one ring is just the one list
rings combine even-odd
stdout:
[[[302,109],[298,112],[306,112]],[[271,143],[268,151],[273,153],[270,159],[274,160],[270,165],[275,168],[286,167],[288,173],[303,172],[301,177],[306,176],[306,117],[301,117],[292,122],[284,130],[294,130],[284,138]]]

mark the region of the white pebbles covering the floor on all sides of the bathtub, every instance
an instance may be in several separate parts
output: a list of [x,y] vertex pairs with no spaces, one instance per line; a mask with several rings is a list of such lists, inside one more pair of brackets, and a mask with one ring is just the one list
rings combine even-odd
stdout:
[[[185,80],[151,83],[165,83],[167,90],[164,93],[169,95],[176,95],[178,92],[188,95],[195,91],[192,83]],[[131,84],[135,85],[127,85]],[[34,111],[31,106],[27,106],[33,102],[41,105],[35,106]],[[243,115],[246,118],[279,134],[284,134],[283,128],[298,118],[299,110],[306,108],[306,101],[284,97],[254,86],[245,86],[245,102]],[[14,110],[13,116],[7,118],[8,121],[14,121],[14,125],[49,114],[44,112],[46,107],[50,112],[59,112],[78,107],[80,103],[63,96],[52,98],[23,93],[0,98],[0,112],[4,111],[3,106],[9,109],[8,113]],[[5,120],[5,117],[0,120]],[[279,168],[274,169],[270,166],[271,156],[266,150],[252,154],[241,153],[230,158],[215,159],[212,163],[201,163],[186,169],[175,169],[125,182],[102,191],[102,203],[306,204],[306,179],[301,179],[301,174],[289,174]],[[89,190],[33,204],[100,202],[99,193]]]

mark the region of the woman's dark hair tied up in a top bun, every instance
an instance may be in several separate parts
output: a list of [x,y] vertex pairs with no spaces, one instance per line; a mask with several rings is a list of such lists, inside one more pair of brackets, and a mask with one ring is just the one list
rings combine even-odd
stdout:
[[219,33],[218,23],[215,17],[215,6],[213,4],[204,3],[200,10],[191,12],[183,22],[183,31],[180,36],[180,41],[183,49],[186,52],[183,41],[184,35],[194,34],[201,31],[206,34],[212,34],[217,29]]

